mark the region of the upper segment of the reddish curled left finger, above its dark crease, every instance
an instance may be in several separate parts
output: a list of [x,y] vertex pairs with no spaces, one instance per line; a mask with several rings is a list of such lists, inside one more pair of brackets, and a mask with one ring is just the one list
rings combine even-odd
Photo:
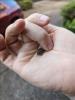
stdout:
[[6,28],[5,32],[5,41],[6,43],[15,41],[18,38],[18,35],[22,33],[25,29],[25,22],[23,19],[16,20],[13,24],[9,25]]

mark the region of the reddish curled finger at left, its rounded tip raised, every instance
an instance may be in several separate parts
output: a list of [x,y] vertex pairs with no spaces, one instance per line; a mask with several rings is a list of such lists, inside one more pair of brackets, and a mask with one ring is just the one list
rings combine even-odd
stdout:
[[5,42],[9,51],[16,54],[19,48],[22,46],[22,41],[18,39],[25,29],[25,22],[23,19],[18,19],[15,23],[8,26],[5,33]]

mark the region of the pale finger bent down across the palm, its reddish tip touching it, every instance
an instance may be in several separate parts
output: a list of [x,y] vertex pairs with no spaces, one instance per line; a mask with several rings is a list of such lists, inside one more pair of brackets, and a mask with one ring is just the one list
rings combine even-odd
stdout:
[[29,21],[26,21],[25,28],[27,36],[38,42],[42,48],[45,50],[51,50],[53,48],[52,39],[43,28]]

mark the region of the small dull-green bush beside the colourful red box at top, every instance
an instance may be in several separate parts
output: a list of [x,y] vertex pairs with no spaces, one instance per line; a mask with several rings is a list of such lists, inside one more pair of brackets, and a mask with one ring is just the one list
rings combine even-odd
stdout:
[[32,8],[32,0],[16,0],[23,10]]

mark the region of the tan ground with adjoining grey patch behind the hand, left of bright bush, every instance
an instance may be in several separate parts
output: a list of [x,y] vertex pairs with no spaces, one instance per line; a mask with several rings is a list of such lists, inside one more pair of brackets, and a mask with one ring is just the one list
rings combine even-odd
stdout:
[[67,1],[50,1],[43,0],[35,2],[33,8],[27,11],[24,11],[25,18],[33,13],[41,13],[50,17],[50,22],[55,25],[62,26],[63,20],[61,16],[62,7],[67,4]]

